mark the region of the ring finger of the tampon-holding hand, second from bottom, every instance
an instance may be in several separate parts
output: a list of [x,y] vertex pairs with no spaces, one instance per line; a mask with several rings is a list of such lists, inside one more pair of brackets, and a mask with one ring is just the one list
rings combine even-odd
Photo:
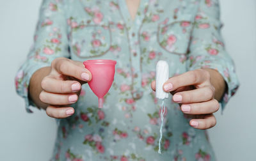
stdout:
[[212,114],[220,109],[217,100],[210,100],[196,104],[182,104],[180,110],[185,114]]

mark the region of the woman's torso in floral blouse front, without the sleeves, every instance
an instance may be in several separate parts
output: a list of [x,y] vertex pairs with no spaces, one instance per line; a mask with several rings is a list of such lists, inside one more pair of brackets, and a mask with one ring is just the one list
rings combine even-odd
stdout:
[[84,84],[76,113],[58,120],[52,160],[214,160],[205,131],[190,127],[170,97],[164,100],[162,154],[157,153],[161,111],[150,88],[159,60],[168,61],[170,77],[186,72],[198,1],[141,0],[133,22],[121,0],[63,5],[71,59],[117,64],[103,109]]

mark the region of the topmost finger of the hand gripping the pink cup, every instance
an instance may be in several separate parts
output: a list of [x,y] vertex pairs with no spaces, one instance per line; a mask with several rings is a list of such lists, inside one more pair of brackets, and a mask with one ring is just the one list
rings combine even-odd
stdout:
[[73,63],[69,59],[54,59],[54,61],[52,61],[52,66],[54,67],[54,69],[56,69],[57,72],[71,77],[75,77],[76,79],[79,79],[81,81],[88,82],[92,79],[92,74],[89,70],[84,68],[84,66],[77,65],[77,62]]

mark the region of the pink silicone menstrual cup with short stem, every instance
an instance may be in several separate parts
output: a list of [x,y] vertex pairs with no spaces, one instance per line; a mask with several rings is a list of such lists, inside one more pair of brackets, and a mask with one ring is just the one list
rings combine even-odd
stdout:
[[99,108],[103,107],[104,96],[108,93],[115,76],[116,61],[87,60],[84,67],[92,73],[92,80],[88,82],[93,93],[99,98]]

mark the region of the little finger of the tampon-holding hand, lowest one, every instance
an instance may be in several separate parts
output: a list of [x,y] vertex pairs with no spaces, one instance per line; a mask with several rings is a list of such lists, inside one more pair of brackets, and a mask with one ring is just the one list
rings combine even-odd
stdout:
[[216,118],[213,114],[207,114],[203,119],[191,119],[189,125],[194,128],[205,130],[216,125]]

